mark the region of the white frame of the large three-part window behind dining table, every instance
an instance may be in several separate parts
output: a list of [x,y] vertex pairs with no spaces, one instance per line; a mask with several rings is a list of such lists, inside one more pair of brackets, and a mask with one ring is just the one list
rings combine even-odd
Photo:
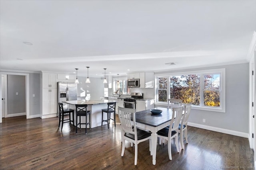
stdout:
[[[170,72],[164,74],[155,74],[155,105],[167,106],[167,102],[158,102],[158,78],[168,77],[167,85],[167,98],[170,98],[170,76],[181,76],[188,74],[200,74],[200,106],[192,105],[192,109],[206,110],[206,111],[216,111],[216,112],[226,112],[226,69],[217,68],[209,70],[194,70],[185,72]],[[204,95],[204,75],[206,74],[220,74],[220,107],[214,106],[204,106],[203,95]]]

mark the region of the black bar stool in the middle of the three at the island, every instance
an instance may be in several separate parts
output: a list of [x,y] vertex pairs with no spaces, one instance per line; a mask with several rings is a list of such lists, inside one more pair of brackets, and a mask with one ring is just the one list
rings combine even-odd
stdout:
[[[87,122],[87,115],[89,115],[89,122]],[[78,116],[79,116],[79,123],[78,122]],[[85,116],[85,122],[81,123],[81,116]],[[87,134],[87,125],[90,125],[91,129],[91,111],[87,110],[87,104],[76,104],[76,134],[77,134],[77,126],[85,125],[85,134]]]

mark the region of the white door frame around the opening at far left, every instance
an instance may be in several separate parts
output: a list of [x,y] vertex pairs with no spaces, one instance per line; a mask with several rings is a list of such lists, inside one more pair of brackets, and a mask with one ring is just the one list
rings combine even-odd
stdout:
[[[20,72],[4,72],[0,71],[0,75],[20,75],[25,76],[25,93],[26,93],[26,119],[29,118],[29,74],[28,73],[20,73]],[[0,98],[2,98],[2,78],[0,78]],[[2,102],[0,102],[0,107],[2,108]],[[7,114],[7,113],[6,113]],[[0,123],[2,123],[2,109],[0,109]]]

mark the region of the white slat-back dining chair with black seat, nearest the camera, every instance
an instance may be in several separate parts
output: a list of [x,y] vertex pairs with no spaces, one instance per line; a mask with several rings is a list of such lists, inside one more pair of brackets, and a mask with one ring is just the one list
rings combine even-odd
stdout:
[[[132,115],[132,121],[131,121]],[[149,150],[151,153],[151,132],[137,129],[136,127],[136,118],[135,118],[135,109],[128,109],[123,107],[118,107],[118,117],[121,123],[121,139],[122,139],[122,153],[121,156],[124,156],[125,141],[134,143],[135,145],[135,158],[134,165],[137,165],[138,160],[138,144],[140,142],[146,141],[149,139]]]

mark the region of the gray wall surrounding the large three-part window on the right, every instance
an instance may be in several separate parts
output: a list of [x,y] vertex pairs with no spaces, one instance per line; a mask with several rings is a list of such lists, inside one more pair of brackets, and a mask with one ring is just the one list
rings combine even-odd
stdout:
[[[214,68],[226,68],[226,113],[192,109],[188,121],[191,123],[248,133],[249,63],[182,71]],[[176,72],[180,72],[180,70]],[[157,74],[160,74],[160,72]],[[206,119],[206,123],[202,123],[202,119]]]

